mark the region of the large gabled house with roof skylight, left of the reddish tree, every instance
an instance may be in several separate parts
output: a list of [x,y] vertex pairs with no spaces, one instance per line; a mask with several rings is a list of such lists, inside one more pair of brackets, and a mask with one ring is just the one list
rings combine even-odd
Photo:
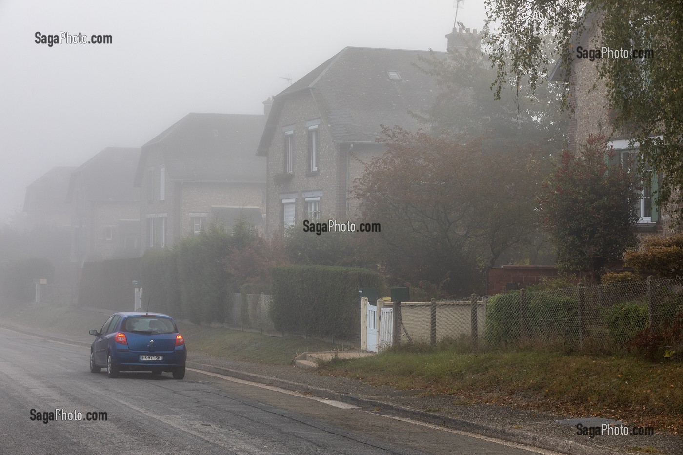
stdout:
[[266,156],[268,234],[303,219],[354,219],[349,191],[385,152],[382,126],[417,130],[413,113],[434,104],[436,82],[417,66],[429,55],[347,47],[273,98],[257,149]]

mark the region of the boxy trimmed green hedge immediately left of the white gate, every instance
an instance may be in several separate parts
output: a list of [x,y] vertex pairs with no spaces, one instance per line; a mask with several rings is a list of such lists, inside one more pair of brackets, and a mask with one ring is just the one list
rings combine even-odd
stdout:
[[384,279],[365,268],[274,267],[270,316],[277,330],[357,340],[361,330],[359,288],[377,288],[381,295]]

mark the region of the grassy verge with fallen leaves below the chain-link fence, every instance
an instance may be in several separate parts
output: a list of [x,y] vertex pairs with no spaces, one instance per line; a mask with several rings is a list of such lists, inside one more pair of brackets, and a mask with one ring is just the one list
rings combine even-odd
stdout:
[[403,350],[333,361],[324,374],[454,394],[460,397],[458,404],[507,404],[683,431],[681,363],[539,352]]

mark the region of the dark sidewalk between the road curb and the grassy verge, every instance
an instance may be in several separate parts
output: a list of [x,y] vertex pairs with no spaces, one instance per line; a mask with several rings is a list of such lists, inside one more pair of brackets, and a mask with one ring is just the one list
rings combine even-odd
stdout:
[[[45,333],[29,327],[0,324],[1,327],[30,333],[59,342],[89,347],[92,336],[66,336]],[[38,334],[40,333],[40,334]],[[591,416],[561,416],[513,406],[471,404],[458,396],[427,395],[426,390],[399,390],[390,386],[372,386],[349,378],[322,376],[316,370],[294,366],[265,365],[234,361],[189,353],[187,366],[273,385],[282,389],[312,394],[373,409],[380,413],[400,415],[455,430],[473,432],[486,437],[532,445],[576,455],[615,455],[654,452],[683,454],[683,438],[665,433],[654,436],[589,436],[577,435],[575,422],[562,424],[560,419]],[[585,426],[595,426],[596,419],[586,420]]]

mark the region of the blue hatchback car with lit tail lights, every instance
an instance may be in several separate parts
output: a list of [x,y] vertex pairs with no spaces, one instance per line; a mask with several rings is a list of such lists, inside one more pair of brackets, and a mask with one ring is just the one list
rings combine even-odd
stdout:
[[173,379],[185,377],[187,350],[176,322],[162,313],[121,312],[112,314],[90,346],[90,372],[107,368],[115,378],[126,370],[173,373]]

